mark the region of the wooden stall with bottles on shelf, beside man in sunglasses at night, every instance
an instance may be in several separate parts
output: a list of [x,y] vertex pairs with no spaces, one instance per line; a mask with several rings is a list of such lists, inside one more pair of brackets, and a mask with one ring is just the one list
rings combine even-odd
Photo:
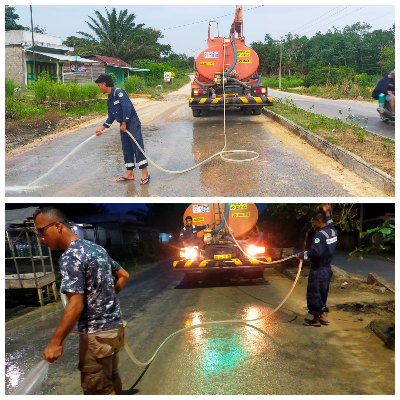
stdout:
[[44,288],[49,301],[52,296],[58,300],[58,293],[51,250],[42,246],[34,228],[35,210],[6,210],[5,288],[36,288],[40,305],[44,306]]

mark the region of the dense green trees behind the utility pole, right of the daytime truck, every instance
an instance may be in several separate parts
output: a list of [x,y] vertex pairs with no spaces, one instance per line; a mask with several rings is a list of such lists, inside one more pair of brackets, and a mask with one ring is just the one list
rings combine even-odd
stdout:
[[[370,29],[369,24],[356,22],[311,38],[289,32],[282,42],[282,74],[306,75],[316,67],[331,65],[352,68],[357,74],[383,75],[394,69],[395,26]],[[266,34],[263,42],[253,42],[250,47],[260,58],[259,72],[264,76],[279,72],[280,42]]]

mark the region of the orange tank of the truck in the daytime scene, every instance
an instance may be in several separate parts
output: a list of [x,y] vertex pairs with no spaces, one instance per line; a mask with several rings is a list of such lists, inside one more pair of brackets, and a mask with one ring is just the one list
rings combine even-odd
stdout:
[[[223,72],[230,68],[234,62],[234,53],[231,38],[225,38],[225,68],[223,64],[224,50],[223,38],[214,38],[208,41],[209,46],[200,52],[196,58],[196,68],[200,74],[199,80],[207,83],[214,82],[214,72]],[[247,82],[254,75],[260,60],[257,53],[244,44],[244,41],[235,38],[237,61],[234,70],[239,74],[236,78]]]

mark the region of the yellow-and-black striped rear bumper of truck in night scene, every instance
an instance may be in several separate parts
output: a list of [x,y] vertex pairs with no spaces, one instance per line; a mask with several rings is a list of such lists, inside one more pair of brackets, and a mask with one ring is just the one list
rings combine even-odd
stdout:
[[258,258],[229,258],[226,260],[179,260],[174,261],[174,271],[201,271],[205,269],[251,269],[252,267],[268,268],[267,264],[262,264],[258,260],[272,261],[271,257]]

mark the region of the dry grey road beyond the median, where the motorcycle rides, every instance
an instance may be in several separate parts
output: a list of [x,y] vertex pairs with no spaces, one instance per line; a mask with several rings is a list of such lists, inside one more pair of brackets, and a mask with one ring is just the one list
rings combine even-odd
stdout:
[[[365,118],[368,117],[367,126],[369,131],[392,140],[395,139],[395,124],[383,122],[380,119],[378,111],[376,111],[376,108],[378,108],[378,101],[365,102],[357,100],[330,100],[320,97],[305,96],[303,94],[282,92],[280,90],[269,88],[268,95],[273,96],[274,98],[285,98],[285,96],[290,96],[299,108],[309,110],[314,114],[325,115],[330,118],[341,117],[344,119],[344,117],[348,116],[348,107],[350,107],[350,114],[354,115],[354,121],[356,121],[356,116],[361,118],[361,126],[365,126],[364,121]],[[312,105],[314,105],[314,108],[309,109]],[[342,110],[342,115],[339,114],[339,109]]]

